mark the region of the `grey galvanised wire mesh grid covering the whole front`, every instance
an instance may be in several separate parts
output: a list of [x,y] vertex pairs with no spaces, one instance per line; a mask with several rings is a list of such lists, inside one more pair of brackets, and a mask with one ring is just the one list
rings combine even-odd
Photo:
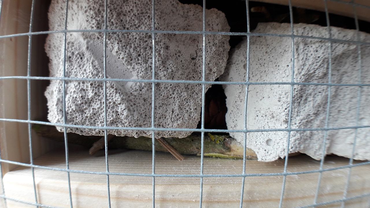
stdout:
[[[359,22],[357,19],[357,13],[356,8],[362,7],[366,9],[370,9],[369,6],[361,5],[355,3],[353,0],[348,1],[342,1],[342,0],[323,0],[324,3],[324,9],[326,13],[326,21],[327,21],[327,30],[329,33],[329,38],[325,37],[311,37],[311,36],[302,36],[302,35],[296,35],[294,34],[294,25],[293,25],[293,10],[292,10],[292,1],[289,0],[289,15],[290,15],[290,28],[291,28],[291,34],[262,34],[262,33],[253,33],[250,31],[250,21],[249,21],[249,1],[245,1],[246,6],[246,18],[247,18],[247,25],[248,31],[245,33],[239,33],[239,32],[211,32],[206,31],[206,0],[203,0],[203,30],[202,31],[161,31],[155,29],[155,0],[152,0],[152,24],[151,30],[108,30],[107,29],[107,4],[108,1],[105,0],[104,7],[104,29],[101,30],[67,30],[67,16],[68,16],[68,9],[65,11],[66,17],[65,17],[65,23],[64,23],[64,30],[60,31],[40,31],[40,32],[34,32],[33,31],[33,19],[34,19],[34,6],[35,1],[32,1],[32,7],[31,7],[31,18],[30,18],[30,24],[29,24],[29,31],[28,33],[19,33],[19,34],[10,34],[5,36],[0,36],[0,38],[8,38],[8,37],[19,37],[19,36],[28,36],[28,60],[27,60],[27,76],[8,76],[8,77],[0,77],[0,79],[23,79],[27,80],[27,120],[19,120],[19,119],[7,119],[7,118],[1,118],[0,121],[3,122],[19,122],[19,123],[26,123],[28,124],[28,142],[29,142],[29,152],[30,152],[30,164],[22,163],[22,162],[16,162],[16,161],[10,161],[10,160],[4,160],[3,158],[0,158],[0,169],[2,170],[2,164],[8,163],[8,164],[14,164],[14,165],[20,165],[23,167],[31,168],[32,170],[32,177],[33,177],[33,189],[34,189],[34,198],[35,201],[24,201],[22,199],[12,198],[6,195],[6,192],[4,192],[4,185],[2,183],[2,192],[3,194],[0,195],[1,198],[4,199],[5,204],[7,200],[11,201],[17,201],[24,204],[29,205],[35,205],[36,207],[50,207],[54,208],[53,206],[46,205],[46,204],[40,204],[38,201],[37,196],[37,188],[36,188],[36,182],[35,182],[35,175],[34,175],[34,168],[41,168],[46,170],[54,170],[54,171],[63,171],[66,172],[68,176],[68,187],[69,187],[69,198],[70,198],[70,207],[74,207],[73,200],[72,200],[72,193],[71,193],[71,181],[70,181],[70,173],[84,173],[84,174],[96,174],[96,175],[106,175],[107,177],[107,207],[111,207],[111,196],[110,196],[110,176],[112,175],[124,175],[124,176],[141,176],[141,177],[151,177],[152,178],[152,207],[155,207],[155,180],[157,177],[196,177],[200,178],[200,184],[199,184],[199,207],[202,207],[202,197],[203,197],[203,178],[207,177],[241,177],[242,178],[242,187],[240,190],[240,207],[243,207],[243,196],[244,196],[244,187],[246,180],[248,180],[248,177],[263,177],[263,176],[282,176],[283,182],[282,182],[282,188],[281,188],[281,195],[280,195],[280,201],[279,201],[279,208],[283,207],[283,198],[285,194],[285,187],[286,187],[286,177],[289,175],[297,175],[297,174],[309,174],[309,173],[318,173],[319,178],[317,181],[317,189],[316,194],[314,197],[314,201],[310,205],[305,205],[302,207],[297,208],[305,208],[305,207],[318,207],[320,205],[329,205],[334,203],[341,203],[341,207],[345,206],[345,202],[349,201],[351,199],[356,198],[363,198],[363,197],[369,197],[370,193],[363,194],[363,195],[357,195],[354,197],[347,197],[347,191],[349,188],[349,182],[351,179],[351,170],[353,167],[358,167],[362,165],[369,165],[370,162],[360,162],[360,163],[353,163],[353,157],[350,158],[349,164],[335,167],[335,168],[324,168],[323,164],[325,161],[325,147],[326,147],[326,138],[327,138],[327,132],[330,130],[342,130],[342,129],[354,129],[355,135],[354,135],[354,145],[352,150],[352,155],[354,155],[355,148],[356,148],[356,140],[357,140],[357,131],[360,128],[370,128],[370,125],[359,125],[359,115],[360,115],[360,106],[361,106],[361,89],[364,86],[370,86],[370,84],[363,84],[361,83],[361,45],[370,45],[370,43],[365,43],[360,41],[359,37]],[[355,24],[356,24],[356,30],[357,30],[357,40],[356,41],[350,41],[350,40],[339,40],[332,38],[331,28],[330,28],[330,20],[329,20],[329,12],[327,8],[327,1],[333,1],[337,3],[347,4],[351,7],[354,14]],[[67,5],[65,8],[68,8],[68,0],[66,1]],[[3,1],[0,0],[0,16],[1,16],[1,6],[3,5]],[[103,33],[104,34],[104,78],[72,78],[66,76],[66,43],[67,43],[67,33],[77,33],[77,32],[87,32],[87,33]],[[199,34],[202,35],[203,40],[203,64],[202,64],[202,81],[192,81],[192,80],[158,80],[155,79],[155,61],[152,61],[152,79],[151,80],[135,80],[135,79],[115,79],[115,78],[107,78],[107,33],[111,32],[118,32],[118,33],[151,33],[152,34],[152,60],[156,59],[155,56],[155,48],[156,48],[156,34]],[[63,77],[36,77],[31,76],[31,47],[32,47],[32,37],[34,35],[39,34],[50,34],[50,33],[62,33],[64,34],[64,63],[63,63]],[[246,68],[246,77],[245,82],[221,82],[221,81],[206,81],[205,80],[205,69],[206,69],[206,37],[208,35],[229,35],[229,36],[237,36],[237,35],[243,35],[247,37],[248,41],[248,48],[247,48],[247,68]],[[252,36],[274,36],[274,37],[288,37],[291,38],[291,45],[292,45],[292,67],[291,67],[291,81],[290,82],[250,82],[249,81],[249,64],[250,64],[250,51],[249,51],[249,44],[250,44],[250,37]],[[317,40],[325,40],[329,44],[329,81],[327,83],[299,83],[295,82],[294,74],[295,74],[295,66],[294,66],[294,59],[295,59],[295,38],[311,38],[311,39],[317,39]],[[359,61],[359,80],[357,81],[357,84],[338,84],[338,83],[332,83],[331,82],[331,74],[332,74],[332,42],[335,41],[337,43],[350,43],[355,44],[357,46],[357,54],[358,54],[358,61]],[[64,108],[64,122],[63,123],[49,123],[49,122],[42,122],[42,121],[35,121],[31,120],[31,80],[62,80],[63,81],[63,108]],[[104,127],[101,126],[85,126],[85,125],[72,125],[68,124],[67,121],[67,115],[65,114],[65,82],[66,81],[100,81],[104,83]],[[107,81],[125,81],[125,82],[142,82],[142,83],[151,83],[152,85],[152,111],[151,111],[151,127],[150,128],[142,128],[142,127],[109,127],[107,126]],[[158,128],[155,127],[155,84],[156,83],[191,83],[191,84],[202,84],[202,113],[201,113],[201,128],[200,129],[189,129],[189,128]],[[205,86],[207,84],[234,84],[234,85],[245,85],[246,87],[246,94],[245,94],[245,106],[244,111],[247,111],[247,103],[248,103],[248,91],[250,85],[290,85],[290,105],[289,105],[289,121],[288,121],[288,127],[287,128],[275,128],[275,129],[249,129],[247,126],[247,115],[245,114],[244,117],[244,129],[240,130],[218,130],[218,129],[205,129]],[[325,120],[325,126],[324,128],[305,128],[305,129],[294,129],[291,128],[290,123],[292,120],[292,103],[293,103],[293,88],[295,85],[326,85],[328,86],[328,99],[327,99],[327,113],[326,113],[326,120]],[[344,126],[344,127],[330,127],[330,121],[329,121],[329,112],[330,112],[330,96],[331,96],[331,87],[332,86],[355,86],[358,87],[357,90],[357,106],[356,106],[356,125],[355,126]],[[55,125],[64,127],[64,144],[65,144],[65,168],[53,168],[53,167],[46,167],[46,166],[40,166],[34,164],[34,158],[33,158],[33,142],[32,142],[32,134],[31,134],[31,125],[32,124],[44,124],[44,125]],[[104,172],[96,172],[96,171],[81,171],[81,170],[73,170],[69,167],[69,158],[68,158],[68,137],[67,137],[67,128],[68,127],[77,127],[77,128],[94,128],[94,129],[103,129],[105,132],[105,165],[106,165],[106,171]],[[136,174],[136,173],[130,173],[130,172],[111,172],[109,169],[109,160],[108,160],[108,130],[148,130],[152,132],[152,173],[151,174]],[[155,172],[155,131],[194,131],[194,132],[201,132],[201,164],[199,168],[199,174],[156,174]],[[248,132],[270,132],[270,131],[283,131],[287,132],[287,148],[286,148],[286,158],[285,158],[285,165],[283,172],[274,172],[274,173],[265,173],[265,174],[248,174],[246,173],[246,142],[247,142],[247,133]],[[289,158],[289,141],[290,141],[290,132],[292,131],[324,131],[324,138],[323,138],[323,157],[320,161],[320,168],[318,170],[310,170],[310,171],[300,171],[300,172],[290,172],[287,171],[288,167],[288,158]],[[204,136],[205,132],[242,132],[244,134],[244,155],[243,155],[243,170],[240,174],[204,174],[203,173],[203,161],[204,161]],[[342,199],[334,200],[334,201],[327,201],[327,202],[317,202],[317,198],[319,195],[319,189],[320,184],[322,180],[322,174],[326,171],[334,171],[334,170],[340,170],[344,168],[349,168],[348,176],[347,176],[347,182],[344,189],[344,194]],[[1,178],[3,178],[3,171],[1,171]],[[248,183],[248,182],[247,182]],[[367,207],[370,207],[370,201]]]

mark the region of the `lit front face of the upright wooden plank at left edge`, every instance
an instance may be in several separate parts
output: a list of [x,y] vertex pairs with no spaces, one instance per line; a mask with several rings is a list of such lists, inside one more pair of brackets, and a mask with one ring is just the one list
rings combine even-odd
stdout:
[[[0,22],[0,35],[28,32],[24,16],[30,16],[30,3],[21,4],[17,1],[3,1]],[[24,16],[21,12],[24,10]],[[29,21],[29,18],[28,18]],[[27,75],[27,43],[28,37],[0,39],[0,76]],[[21,48],[24,46],[23,48]],[[23,69],[23,71],[22,71]],[[27,119],[26,80],[1,80],[0,82],[0,115],[1,118]],[[23,104],[23,106],[22,106]],[[26,104],[26,106],[24,106]],[[29,161],[27,155],[27,124],[0,122],[1,158],[13,161]],[[26,134],[24,134],[26,133]],[[17,166],[5,164],[3,172]]]

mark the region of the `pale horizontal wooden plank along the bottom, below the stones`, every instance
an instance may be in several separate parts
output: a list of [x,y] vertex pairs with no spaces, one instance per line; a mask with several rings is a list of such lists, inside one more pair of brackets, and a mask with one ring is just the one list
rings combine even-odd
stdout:
[[[92,157],[88,150],[70,151],[70,168],[84,171],[105,171],[104,151]],[[199,174],[200,157],[184,155],[178,161],[169,153],[156,153],[155,172],[157,174]],[[142,173],[152,172],[151,151],[110,152],[110,172]],[[347,165],[349,159],[327,157],[324,168]],[[356,161],[359,162],[359,161]],[[53,151],[35,160],[35,164],[47,167],[65,168],[64,151]],[[306,155],[289,158],[288,171],[317,170],[320,162]],[[243,161],[219,158],[205,158],[204,174],[240,174]],[[283,172],[284,160],[274,162],[246,161],[246,173]],[[342,199],[347,181],[348,168],[324,172],[318,202]],[[370,193],[370,165],[355,167],[352,170],[348,196]],[[289,175],[283,207],[299,207],[313,203],[319,173]],[[107,207],[107,177],[105,175],[71,173],[73,206]],[[246,177],[244,207],[278,207],[282,188],[282,176]],[[67,173],[61,171],[35,169],[35,182],[38,202],[57,207],[70,207]],[[241,177],[212,177],[203,181],[203,207],[238,207],[241,190]],[[157,177],[155,180],[155,203],[158,207],[198,207],[199,178]],[[35,202],[33,180],[30,168],[18,168],[4,176],[5,193],[25,201]],[[112,207],[151,207],[152,178],[139,176],[110,176]],[[352,200],[346,207],[365,207],[369,197]],[[8,207],[31,207],[7,200]],[[340,207],[339,204],[328,207]]]

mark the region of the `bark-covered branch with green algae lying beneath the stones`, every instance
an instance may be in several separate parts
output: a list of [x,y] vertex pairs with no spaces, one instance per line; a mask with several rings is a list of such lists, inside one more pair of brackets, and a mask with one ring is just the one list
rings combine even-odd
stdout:
[[[54,126],[34,124],[33,130],[42,137],[54,141],[63,142],[64,133],[57,131]],[[79,144],[86,147],[92,147],[94,142],[101,136],[85,136],[68,132],[68,143]],[[164,138],[168,144],[174,147],[180,154],[201,154],[201,135],[193,133],[185,138],[169,137]],[[108,142],[108,148],[134,149],[134,150],[152,150],[152,138],[148,137],[113,137]],[[155,151],[168,152],[157,140],[155,141]],[[243,145],[234,138],[226,135],[213,135],[211,133],[204,135],[204,155],[220,158],[243,158]],[[255,152],[247,148],[247,158],[257,158]]]

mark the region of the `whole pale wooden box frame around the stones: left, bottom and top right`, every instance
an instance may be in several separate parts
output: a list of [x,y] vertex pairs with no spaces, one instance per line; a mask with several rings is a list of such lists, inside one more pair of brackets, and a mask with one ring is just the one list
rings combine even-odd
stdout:
[[[259,0],[268,3],[287,5],[287,0]],[[3,0],[0,23],[0,35],[26,33],[29,30],[31,1]],[[44,1],[36,1],[36,10],[45,16],[35,18],[45,19],[47,14]],[[368,0],[355,0],[356,3],[370,6]],[[307,9],[323,11],[322,0],[292,0],[292,5]],[[353,17],[351,6],[334,1],[327,2],[329,13]],[[42,12],[44,11],[44,12]],[[356,7],[360,20],[370,21],[369,9]],[[37,12],[36,12],[37,14]],[[36,21],[37,22],[37,21]],[[42,23],[43,21],[39,21]],[[44,21],[45,24],[46,21]],[[34,25],[35,31],[44,31]],[[47,26],[46,26],[47,27]],[[38,61],[44,53],[42,36],[33,36],[31,71],[43,69]],[[40,44],[37,44],[40,43]],[[2,76],[26,76],[27,74],[28,36],[1,38],[0,68]],[[38,51],[38,52],[37,52]],[[37,55],[38,54],[38,55]],[[37,56],[36,56],[37,55]],[[47,65],[47,61],[45,62]],[[37,70],[36,70],[37,69]],[[41,72],[37,72],[41,73]],[[32,76],[42,74],[32,74]],[[27,83],[25,80],[7,79],[1,81],[0,115],[1,118],[27,120]],[[31,83],[31,106],[36,109],[32,112],[32,120],[40,118],[47,111],[44,99],[44,90],[41,84]],[[42,98],[42,99],[41,99]],[[46,102],[46,101],[45,101]],[[36,108],[35,108],[36,107]],[[45,109],[43,109],[45,108]],[[4,160],[28,162],[29,143],[28,127],[25,123],[0,122],[1,158]],[[38,157],[34,164],[47,167],[65,168],[65,154],[63,148],[45,152],[55,147],[55,142],[32,135],[34,157]],[[88,150],[70,150],[70,169],[84,171],[105,171],[104,151],[92,157]],[[169,153],[156,153],[155,172],[157,174],[199,174],[200,157],[184,155],[184,161],[176,160]],[[110,151],[110,172],[126,172],[151,174],[152,153],[148,151]],[[347,165],[349,159],[342,157],[327,157],[324,168]],[[356,161],[360,162],[360,161]],[[306,155],[289,158],[287,171],[318,170],[320,162]],[[15,168],[15,169],[14,169]],[[204,174],[240,174],[242,160],[205,158]],[[13,170],[14,169],[14,170]],[[246,173],[275,173],[283,172],[284,160],[274,162],[258,162],[248,160]],[[347,197],[356,197],[370,194],[370,165],[353,167],[351,169]],[[5,194],[28,202],[35,202],[34,185],[31,168],[3,163],[3,178]],[[55,206],[71,207],[68,190],[67,173],[62,171],[35,168],[35,183],[38,203]],[[340,200],[346,188],[349,168],[323,172],[317,202]],[[313,204],[317,189],[319,173],[289,175],[286,177],[285,194],[282,207],[292,208]],[[97,174],[71,173],[71,195],[74,208],[108,207],[107,176]],[[242,187],[241,177],[212,177],[203,179],[203,207],[239,207]],[[282,176],[246,177],[243,195],[243,207],[262,208],[279,207]],[[157,177],[155,179],[156,207],[199,207],[200,178]],[[152,207],[152,178],[138,176],[110,176],[111,205],[115,207]],[[345,207],[369,208],[370,197],[361,197],[346,202]],[[0,207],[3,201],[0,199]],[[7,207],[35,207],[7,200]],[[319,207],[341,207],[341,203],[333,203]]]

